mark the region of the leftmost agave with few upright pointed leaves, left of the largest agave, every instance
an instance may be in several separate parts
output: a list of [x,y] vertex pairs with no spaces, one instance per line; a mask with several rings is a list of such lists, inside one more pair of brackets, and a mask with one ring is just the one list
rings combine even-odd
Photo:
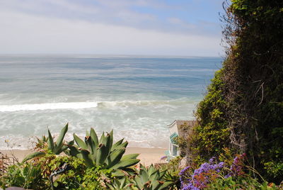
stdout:
[[[54,143],[54,137],[51,135],[50,130],[48,129],[48,138],[45,135],[42,136],[42,139],[37,139],[38,143],[41,143],[40,146],[47,143],[47,150],[48,152],[52,152],[54,155],[59,155],[60,153],[67,150],[68,146],[64,144],[64,137],[68,131],[68,124],[62,128],[56,143]],[[74,141],[68,143],[68,145],[74,144]],[[33,159],[34,157],[42,157],[45,156],[47,152],[33,152],[32,154],[28,155],[23,159],[23,162]]]

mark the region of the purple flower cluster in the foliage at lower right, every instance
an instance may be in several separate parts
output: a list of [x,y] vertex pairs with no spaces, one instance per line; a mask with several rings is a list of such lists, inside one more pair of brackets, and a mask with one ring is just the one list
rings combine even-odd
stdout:
[[179,175],[181,188],[183,190],[199,190],[207,187],[210,181],[219,177],[219,172],[224,167],[224,162],[214,163],[214,157],[209,162],[203,163],[200,168],[195,169],[193,174],[190,174],[190,167],[185,167]]

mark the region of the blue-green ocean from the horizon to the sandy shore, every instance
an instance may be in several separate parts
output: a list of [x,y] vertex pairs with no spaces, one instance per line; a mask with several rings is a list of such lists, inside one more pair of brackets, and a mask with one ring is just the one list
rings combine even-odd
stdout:
[[192,120],[221,57],[0,55],[0,150],[26,149],[69,122],[83,137],[114,130],[133,147],[168,147]]

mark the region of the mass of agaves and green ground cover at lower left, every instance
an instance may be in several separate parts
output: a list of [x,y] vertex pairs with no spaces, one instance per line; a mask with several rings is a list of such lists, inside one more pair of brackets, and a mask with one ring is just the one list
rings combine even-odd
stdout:
[[139,154],[124,155],[128,143],[123,139],[113,143],[113,131],[102,133],[98,140],[91,128],[84,140],[74,134],[74,140],[65,142],[67,130],[68,124],[56,141],[48,130],[48,137],[38,138],[35,152],[23,162],[8,163],[3,156],[1,188],[161,190],[175,185],[174,180],[168,180],[171,174],[166,169],[134,167]]

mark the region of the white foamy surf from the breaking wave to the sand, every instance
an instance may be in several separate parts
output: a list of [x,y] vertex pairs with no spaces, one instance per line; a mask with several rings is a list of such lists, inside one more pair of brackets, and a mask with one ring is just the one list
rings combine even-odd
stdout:
[[[67,105],[71,108],[67,108]],[[96,106],[89,108],[90,104]],[[49,105],[49,106],[47,106]],[[191,119],[195,104],[190,99],[168,101],[89,101],[50,104],[22,104],[0,106],[0,150],[7,149],[4,140],[16,149],[31,147],[28,138],[47,134],[47,126],[52,135],[57,136],[60,128],[69,122],[66,140],[72,133],[84,137],[86,130],[93,127],[98,135],[114,130],[115,140],[125,138],[132,147],[166,147],[168,128],[175,119]],[[70,106],[71,105],[71,106]],[[8,106],[8,105],[6,105]],[[49,108],[67,108],[52,110]],[[76,108],[75,108],[76,107]],[[15,111],[15,110],[25,111]],[[32,109],[33,108],[33,109]],[[38,108],[46,109],[33,111]],[[15,111],[15,112],[8,112]],[[31,140],[35,141],[35,140]]]

